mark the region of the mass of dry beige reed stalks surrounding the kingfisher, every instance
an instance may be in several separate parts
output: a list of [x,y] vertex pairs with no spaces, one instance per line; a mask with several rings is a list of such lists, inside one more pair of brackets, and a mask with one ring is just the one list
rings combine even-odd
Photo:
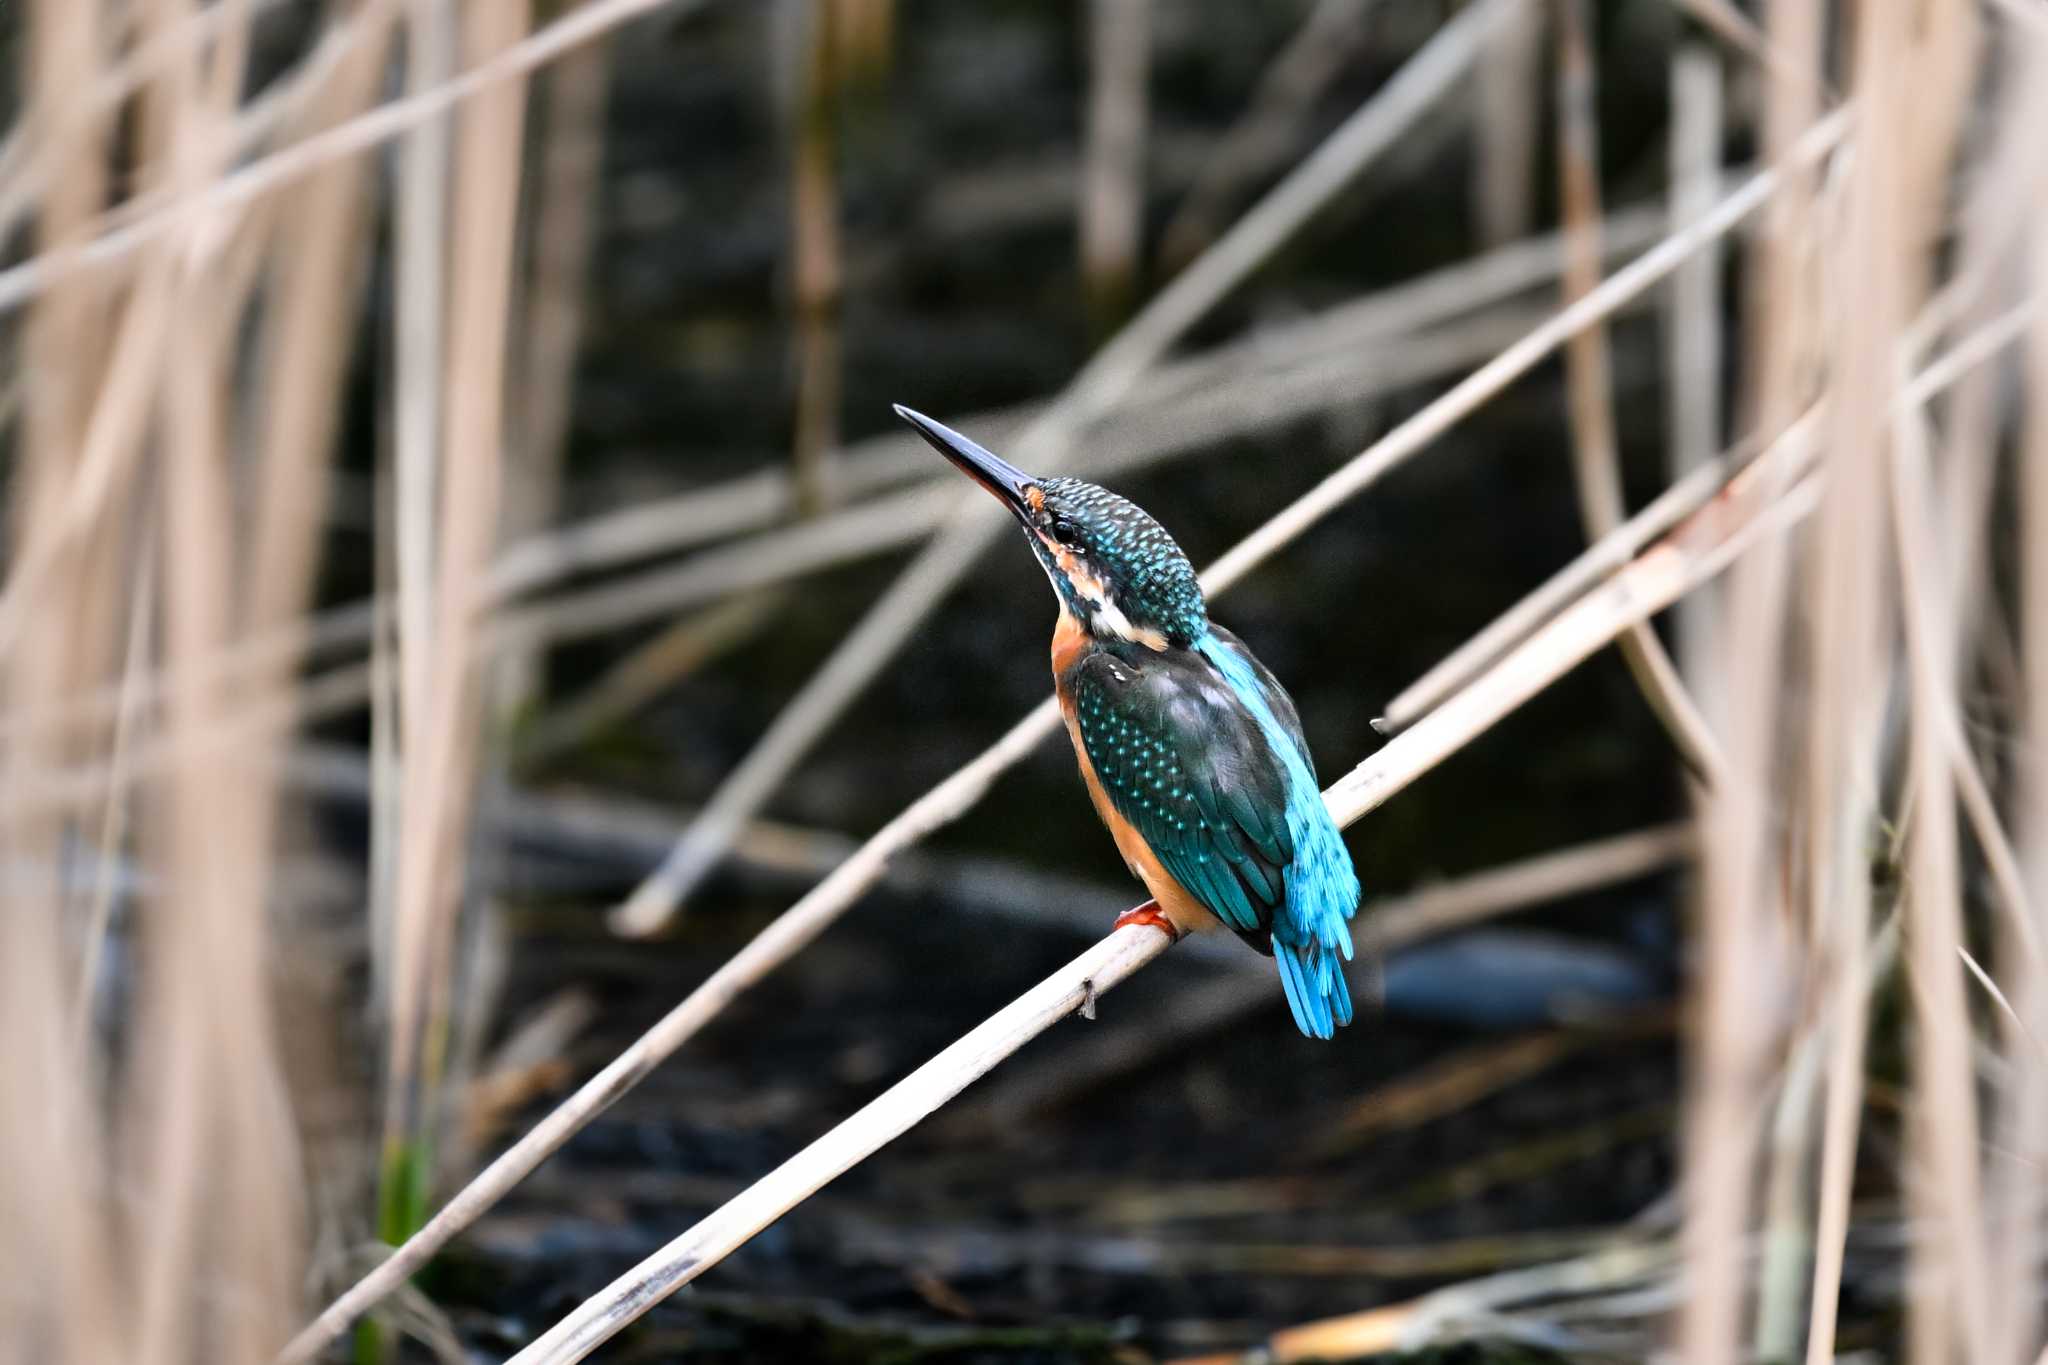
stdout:
[[[406,1293],[406,1277],[451,1236],[1057,726],[1051,706],[1034,708],[852,851],[850,841],[762,831],[752,819],[995,524],[979,503],[956,514],[950,485],[903,440],[838,450],[836,340],[817,323],[860,276],[838,260],[829,231],[838,131],[823,100],[807,102],[811,135],[797,147],[805,458],[795,471],[555,526],[606,61],[586,45],[659,6],[590,0],[530,35],[522,4],[336,6],[297,63],[254,90],[250,53],[266,0],[29,6],[23,117],[0,149],[0,225],[33,215],[27,256],[0,270],[0,311],[20,311],[18,368],[35,377],[14,420],[0,591],[0,841],[20,880],[0,917],[0,1089],[10,1097],[0,1111],[0,1259],[14,1277],[0,1334],[10,1349],[57,1363],[240,1365],[270,1359],[299,1312],[313,1246],[305,1191],[332,1179],[299,1146],[291,1040],[276,1009],[295,925],[281,905],[281,849],[295,835],[287,780],[307,759],[295,749],[307,718],[377,698],[365,763],[375,778],[365,786],[379,864],[371,898],[389,917],[373,931],[389,1066],[373,1109],[387,1126],[387,1195],[406,1205],[383,1228],[397,1238],[426,1214],[418,1181],[451,1117],[442,1078],[459,1031],[455,921],[473,886],[469,788],[492,741],[485,667],[512,659],[512,694],[532,696],[549,645],[684,604],[709,608],[698,632],[600,688],[602,706],[565,710],[563,733],[580,733],[592,714],[633,706],[674,677],[678,655],[702,659],[676,641],[717,649],[758,624],[762,608],[741,593],[930,538],[711,802],[682,870],[641,898],[635,921],[657,923],[743,831],[772,845],[774,866],[805,876],[829,866],[825,878],[418,1226],[285,1347],[287,1359],[307,1359],[356,1314]],[[827,8],[846,10],[846,25],[823,31],[819,47],[844,37],[858,59],[881,57],[887,4]],[[1602,217],[1589,117],[1597,6],[1567,2],[1556,10],[1563,252],[1524,244],[1165,364],[1221,299],[1475,70],[1487,72],[1477,100],[1481,235],[1499,241],[1528,223],[1540,12],[1489,0],[1464,6],[1235,227],[1210,231],[1239,186],[1290,156],[1368,8],[1315,6],[1167,233],[1169,258],[1214,235],[1210,250],[1061,397],[1004,413],[1014,452],[1130,469],[1188,448],[1190,432],[1253,430],[1477,364],[1214,563],[1204,583],[1221,593],[1569,346],[1593,546],[1397,698],[1389,720],[1405,733],[1327,798],[1339,817],[1360,817],[1618,632],[1630,632],[1645,690],[1714,782],[1696,835],[1653,841],[1657,860],[1679,847],[1700,860],[1675,1240],[1638,1228],[1591,1254],[1284,1332],[1272,1359],[1413,1345],[1509,1310],[1559,1322],[1606,1314],[1634,1324],[1630,1340],[1669,1320],[1677,1357],[1698,1365],[1800,1349],[1808,1361],[1835,1359],[1849,1252],[1874,1232],[1860,1199],[1874,1171],[1888,1175],[1870,1160],[1882,1144],[1868,1138],[1890,1119],[1866,1103],[1866,1052],[1872,993],[1894,952],[1878,919],[1896,900],[1907,964],[1896,1187],[1909,1234],[1894,1238],[1909,1265],[1905,1351],[1933,1365],[2048,1361],[2038,1150],[2048,1113],[2048,776],[2038,755],[2048,714],[2048,254],[2034,231],[2048,176],[2028,135],[2040,125],[2048,29],[2019,0],[1982,14],[1964,0],[1862,4],[1853,23],[1843,23],[1849,6],[1782,0],[1765,8],[1763,31],[1722,0],[1683,0],[1747,57],[1724,106],[1745,117],[1741,86],[1753,84],[1767,160],[1763,174],[1720,194],[1718,147],[1743,129],[1724,125],[1712,94],[1716,57],[1686,51],[1673,82],[1671,231],[1659,239],[1640,215]],[[1145,256],[1135,133],[1147,113],[1135,41],[1143,10],[1098,4],[1096,16],[1098,137],[1085,158],[1096,188],[1077,199],[1090,272],[1110,299]],[[408,88],[377,102],[399,18]],[[547,82],[553,149],[541,162],[553,188],[528,278],[516,254],[524,82],[557,61],[565,65]],[[1851,115],[1831,94],[1837,70],[1855,108],[1853,151],[1841,158],[1833,149]],[[397,364],[379,401],[395,417],[397,495],[379,548],[395,542],[397,591],[313,616],[344,379],[365,350],[360,319],[375,315],[365,262],[377,168],[360,153],[389,139],[403,139],[391,233]],[[117,162],[127,174],[111,174]],[[1712,260],[1759,207],[1761,229],[1743,248],[1735,403],[1747,448],[1767,448],[1751,460],[1714,456]],[[1602,233],[1610,239],[1595,241]],[[1597,262],[1636,246],[1649,250],[1599,280]],[[1530,327],[1522,295],[1554,278],[1559,256],[1569,258],[1567,307]],[[1673,272],[1673,479],[1626,518],[1602,332]],[[518,317],[530,327],[514,360]],[[2015,344],[2019,366],[2007,356]],[[1360,375],[1366,366],[1378,372]],[[518,432],[506,430],[512,385],[524,385]],[[1067,458],[1077,450],[1087,454]],[[520,483],[506,491],[514,475]],[[2017,489],[2009,505],[1999,497],[2007,487]],[[850,505],[776,524],[793,508],[819,510],[827,489]],[[520,540],[500,551],[508,499]],[[2017,546],[2017,585],[1995,571],[2007,542]],[[682,548],[698,555],[561,589],[571,575]],[[1710,622],[1686,626],[1679,684],[1642,622],[1731,561]],[[324,671],[303,675],[311,665]],[[1702,700],[1698,714],[1688,696]],[[2013,743],[1985,741],[1982,698],[2017,716]],[[647,827],[635,827],[637,847],[651,843]],[[1585,884],[1649,857],[1630,855],[1548,874]],[[90,876],[74,876],[80,862]],[[129,864],[145,872],[141,894],[121,880]],[[389,888],[383,864],[395,872]],[[1898,884],[1886,880],[1892,864],[1905,872]],[[1409,909],[1468,917],[1544,884],[1518,870],[1511,886],[1479,878]],[[520,1359],[582,1355],[1161,950],[1143,931],[1096,945]],[[1995,1009],[1972,1011],[1964,972]],[[1190,1003],[1210,1019],[1231,1009],[1241,1003],[1221,988]],[[551,1027],[559,1038],[565,1025],[557,1017]],[[1128,1064],[1112,1052],[1102,1068]],[[1532,1050],[1516,1064],[1546,1056]],[[1036,1103],[1032,1095],[1024,1087],[1012,1103]],[[109,1189],[121,1199],[106,1199]],[[1583,1244],[1544,1246],[1563,1254]],[[1167,1263],[1303,1273],[1464,1265],[1450,1252],[1401,1261],[1343,1250],[1268,1248],[1260,1259],[1219,1246],[1206,1261]],[[1542,1295],[1579,1302],[1538,1304]],[[442,1334],[442,1349],[451,1340]]]

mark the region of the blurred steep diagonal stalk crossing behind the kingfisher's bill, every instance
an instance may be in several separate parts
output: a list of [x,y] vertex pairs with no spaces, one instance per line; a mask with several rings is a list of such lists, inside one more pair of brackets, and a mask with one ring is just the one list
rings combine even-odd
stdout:
[[[1440,98],[1456,90],[1473,55],[1518,0],[1479,0],[1346,119],[1300,166],[1253,205],[1212,248],[1155,295],[1075,375],[1067,391],[1020,438],[1022,469],[1067,463],[1077,428],[1124,397],[1194,323],[1294,237],[1343,186],[1393,149]],[[1083,463],[1085,467],[1085,463]],[[778,790],[811,745],[897,655],[938,602],[967,575],[1008,516],[975,491],[958,514],[889,585],[854,630],[768,724],[739,765],[682,831],[668,860],[610,915],[616,933],[659,931],[684,896],[717,866],[733,835]]]

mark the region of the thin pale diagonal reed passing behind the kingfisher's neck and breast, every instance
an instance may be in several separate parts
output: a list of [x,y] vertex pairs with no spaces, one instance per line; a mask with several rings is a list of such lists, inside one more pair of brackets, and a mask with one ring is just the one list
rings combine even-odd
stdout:
[[[1819,156],[1841,137],[1847,127],[1845,117],[1835,117],[1806,139],[1804,149]],[[1667,237],[1659,248],[1647,252],[1632,266],[1618,272],[1597,291],[1577,305],[1544,323],[1516,346],[1509,346],[1487,366],[1481,366],[1450,393],[1438,397],[1419,413],[1409,417],[1382,440],[1360,452],[1350,465],[1333,473],[1315,489],[1298,497],[1280,512],[1266,528],[1253,532],[1235,551],[1210,565],[1204,575],[1204,589],[1221,593],[1231,581],[1243,577],[1266,557],[1282,551],[1317,520],[1333,512],[1343,499],[1372,481],[1401,458],[1421,450],[1430,440],[1450,430],[1456,422],[1477,411],[1487,399],[1499,393],[1522,372],[1536,366],[1550,354],[1565,336],[1587,321],[1622,307],[1628,299],[1647,291],[1692,250],[1712,241],[1733,227],[1759,203],[1763,203],[1776,182],[1774,172],[1747,182],[1720,205],[1720,211],[1696,225]],[[1788,438],[1790,440],[1790,438]],[[1782,452],[1780,452],[1782,454]],[[1364,467],[1364,477],[1352,471]],[[1653,503],[1655,508],[1657,503]],[[1642,514],[1638,514],[1642,516]],[[1278,532],[1272,532],[1280,526]],[[1272,534],[1270,534],[1272,532]],[[1620,534],[1620,532],[1618,532]],[[1249,548],[1247,548],[1249,546]],[[1597,546],[1595,546],[1597,548]],[[285,1353],[285,1361],[305,1361],[328,1340],[338,1336],[356,1316],[385,1293],[406,1281],[426,1261],[440,1250],[457,1232],[475,1222],[485,1209],[498,1203],[526,1173],[547,1160],[571,1134],[608,1109],[621,1095],[633,1089],[641,1076],[659,1066],[670,1054],[688,1042],[696,1029],[713,1019],[729,1001],[756,980],[764,978],[784,960],[795,956],[805,943],[838,919],[862,892],[866,892],[889,866],[889,860],[920,841],[934,829],[965,814],[995,778],[1012,763],[1022,761],[1038,741],[1059,729],[1059,708],[1053,698],[1034,706],[1018,724],[1010,729],[991,749],[952,774],[946,782],[911,802],[901,814],[868,839],[852,857],[840,864],[831,876],[811,888],[797,905],[784,911],[768,929],[739,950],[725,966],[690,993],[680,1005],[664,1015],[651,1029],[641,1033],[625,1052],[586,1081],[575,1095],[557,1105],[524,1138],[512,1144],[489,1166],[469,1181],[449,1203],[434,1214],[420,1232],[406,1240],[383,1265],[365,1275],[356,1285],[330,1304]]]

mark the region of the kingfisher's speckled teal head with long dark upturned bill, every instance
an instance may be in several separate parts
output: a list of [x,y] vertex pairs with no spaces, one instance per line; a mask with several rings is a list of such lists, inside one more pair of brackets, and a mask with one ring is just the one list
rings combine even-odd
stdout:
[[1186,649],[1208,630],[1194,565],[1143,508],[1081,479],[1036,479],[924,413],[895,411],[1010,508],[1083,628],[1151,649]]

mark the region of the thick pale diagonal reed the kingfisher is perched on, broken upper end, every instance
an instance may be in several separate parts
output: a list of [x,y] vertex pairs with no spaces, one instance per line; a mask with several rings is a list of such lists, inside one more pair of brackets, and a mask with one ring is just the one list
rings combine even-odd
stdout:
[[[1323,794],[1337,823],[1352,825],[1386,802],[1628,624],[1667,608],[1688,587],[1726,567],[1759,534],[1782,530],[1812,505],[1810,487],[1769,503],[1757,495],[1755,481],[1747,483],[1747,489],[1729,489],[1726,499],[1653,546],[1413,731],[1339,778]],[[825,1183],[928,1117],[1026,1042],[1075,1009],[1092,1007],[1096,997],[1163,954],[1167,945],[1169,939],[1143,927],[1114,929],[1090,952],[586,1300],[514,1355],[510,1365],[565,1365],[584,1359]]]

